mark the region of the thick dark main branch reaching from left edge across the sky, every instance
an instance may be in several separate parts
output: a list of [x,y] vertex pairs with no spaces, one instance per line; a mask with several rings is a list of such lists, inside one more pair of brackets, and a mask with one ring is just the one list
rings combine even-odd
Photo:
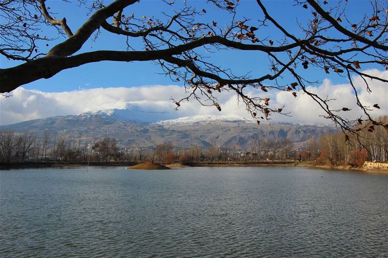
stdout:
[[[206,37],[187,44],[175,46],[172,48],[167,48],[163,50],[154,50],[154,51],[96,51],[80,54],[74,57],[69,57],[68,59],[55,59],[56,56],[48,56],[53,59],[43,59],[43,61],[35,60],[30,61],[25,64],[18,65],[14,68],[2,69],[0,70],[0,92],[9,92],[15,90],[18,86],[35,81],[40,78],[49,78],[61,70],[65,70],[71,67],[77,67],[81,64],[96,62],[96,61],[136,61],[133,57],[146,56],[146,60],[158,60],[165,58],[172,58],[173,55],[182,54],[185,51],[192,50],[196,47],[209,45],[209,44],[222,44],[224,46],[233,47],[236,49],[242,50],[259,50],[263,52],[282,52],[288,49],[291,49],[295,46],[299,46],[299,43],[293,43],[286,46],[262,46],[262,45],[248,45],[242,44],[239,42],[230,41],[220,36]],[[76,58],[77,57],[77,58]],[[80,61],[79,58],[84,57],[85,59]],[[141,61],[141,60],[137,60]],[[58,63],[55,63],[58,62]],[[47,66],[52,64],[53,68]],[[24,72],[21,78],[20,72]],[[33,71],[33,72],[31,72]],[[264,76],[267,78],[267,76]],[[210,77],[211,78],[211,77]],[[249,83],[246,82],[246,83]]]

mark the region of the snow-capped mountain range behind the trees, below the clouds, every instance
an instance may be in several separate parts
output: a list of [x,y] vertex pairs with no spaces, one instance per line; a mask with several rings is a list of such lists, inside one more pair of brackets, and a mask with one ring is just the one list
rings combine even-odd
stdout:
[[20,133],[29,131],[38,136],[49,130],[51,137],[61,134],[90,141],[111,137],[122,148],[148,147],[163,142],[186,147],[209,147],[213,143],[217,146],[243,148],[255,139],[289,139],[302,143],[310,137],[337,131],[336,127],[328,124],[302,122],[262,121],[258,125],[256,120],[237,116],[168,118],[166,112],[107,109],[3,125],[0,130]]

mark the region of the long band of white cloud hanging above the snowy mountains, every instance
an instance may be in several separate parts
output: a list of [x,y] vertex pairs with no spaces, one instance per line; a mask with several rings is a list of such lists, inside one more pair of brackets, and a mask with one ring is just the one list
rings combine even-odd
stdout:
[[[373,76],[388,78],[387,71],[368,70],[364,71]],[[360,101],[366,106],[379,104],[381,109],[372,108],[371,114],[375,117],[388,114],[388,85],[386,83],[369,80],[372,93],[366,89],[364,81],[354,77]],[[356,118],[361,115],[356,106],[355,94],[349,84],[333,85],[330,80],[323,80],[319,87],[309,87],[309,91],[319,94],[322,98],[334,98],[330,102],[332,108],[352,108],[352,111],[344,115]],[[327,122],[319,115],[323,115],[322,109],[307,94],[298,92],[294,98],[290,92],[251,91],[251,96],[268,96],[270,104],[277,108],[285,105],[285,111],[290,111],[292,117],[274,115],[275,121],[309,121]],[[195,115],[237,115],[249,117],[242,103],[236,101],[236,95],[232,92],[223,92],[217,95],[222,112],[215,107],[201,106],[192,100],[182,103],[178,111],[175,104],[170,100],[171,96],[180,99],[185,96],[182,87],[176,85],[141,86],[132,88],[97,88],[80,91],[65,92],[42,92],[26,90],[22,87],[12,91],[12,97],[0,98],[0,124],[11,124],[37,118],[46,118],[59,115],[79,114],[86,111],[111,108],[131,108],[143,111],[167,112],[166,118],[178,118]],[[265,95],[267,94],[267,95]]]

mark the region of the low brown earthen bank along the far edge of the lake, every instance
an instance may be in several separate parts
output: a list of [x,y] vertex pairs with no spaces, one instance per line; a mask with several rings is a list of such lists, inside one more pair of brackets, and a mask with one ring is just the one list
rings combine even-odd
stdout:
[[[135,162],[91,162],[89,167],[130,167],[137,165]],[[371,173],[382,173],[388,174],[387,163],[365,163],[367,166],[363,167],[352,167],[350,165],[317,165],[313,161],[273,161],[273,162],[247,162],[247,163],[210,163],[210,162],[194,162],[190,164],[182,165],[180,163],[174,163],[166,165],[170,168],[181,168],[181,167],[309,167],[319,168],[327,170],[347,170],[347,171],[359,171],[359,172],[371,172]],[[375,167],[372,164],[376,164]],[[383,167],[381,165],[384,165]],[[83,162],[26,162],[26,163],[0,163],[0,170],[10,169],[28,169],[28,168],[63,168],[63,167],[87,167],[87,163]],[[372,169],[371,169],[372,168]]]

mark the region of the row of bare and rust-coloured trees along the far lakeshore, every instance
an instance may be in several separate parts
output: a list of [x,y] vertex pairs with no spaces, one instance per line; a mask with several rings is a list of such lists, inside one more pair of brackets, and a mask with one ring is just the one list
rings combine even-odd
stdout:
[[[379,119],[388,123],[388,116]],[[52,137],[49,131],[42,136],[30,132],[0,132],[1,167],[60,167],[88,162],[94,166],[128,166],[148,159],[163,165],[291,166],[304,161],[309,166],[362,167],[366,161],[388,162],[388,134],[384,127],[375,126],[373,130],[360,131],[357,136],[329,133],[298,145],[288,139],[252,139],[243,148],[217,146],[216,141],[207,148],[174,146],[170,142],[123,148],[110,137],[92,141],[64,134]]]

